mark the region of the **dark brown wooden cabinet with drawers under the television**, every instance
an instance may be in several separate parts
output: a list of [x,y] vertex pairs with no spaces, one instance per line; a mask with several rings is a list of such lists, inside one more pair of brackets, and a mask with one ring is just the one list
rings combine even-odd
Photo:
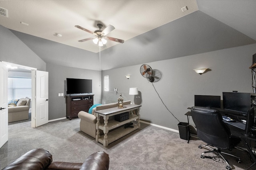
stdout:
[[93,105],[93,96],[81,95],[81,94],[70,94],[66,95],[66,117],[68,119],[78,117],[79,111],[88,112],[90,107]]

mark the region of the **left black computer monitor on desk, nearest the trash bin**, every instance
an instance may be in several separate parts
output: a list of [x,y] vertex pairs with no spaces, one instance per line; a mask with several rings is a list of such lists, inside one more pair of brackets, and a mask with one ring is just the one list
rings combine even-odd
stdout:
[[195,106],[220,108],[220,96],[195,95]]

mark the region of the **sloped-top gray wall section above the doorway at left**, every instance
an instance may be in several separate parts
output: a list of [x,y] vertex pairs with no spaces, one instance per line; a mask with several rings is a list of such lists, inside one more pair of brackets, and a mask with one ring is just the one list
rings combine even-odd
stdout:
[[2,25],[0,25],[0,61],[46,71],[46,63]]

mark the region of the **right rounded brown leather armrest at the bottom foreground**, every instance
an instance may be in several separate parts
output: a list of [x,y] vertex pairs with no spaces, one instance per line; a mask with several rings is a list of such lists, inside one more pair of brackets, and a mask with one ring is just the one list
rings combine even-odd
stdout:
[[108,170],[109,157],[104,151],[98,151],[86,158],[80,170]]

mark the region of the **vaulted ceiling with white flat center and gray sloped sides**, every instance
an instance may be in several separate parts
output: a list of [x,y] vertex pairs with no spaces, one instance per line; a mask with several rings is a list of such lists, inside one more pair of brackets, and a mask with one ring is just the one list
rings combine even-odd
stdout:
[[94,35],[74,27],[94,31],[98,22],[124,39],[101,49],[102,70],[256,43],[256,0],[0,0],[0,7],[8,10],[0,25],[61,66],[99,70],[99,47],[78,42]]

